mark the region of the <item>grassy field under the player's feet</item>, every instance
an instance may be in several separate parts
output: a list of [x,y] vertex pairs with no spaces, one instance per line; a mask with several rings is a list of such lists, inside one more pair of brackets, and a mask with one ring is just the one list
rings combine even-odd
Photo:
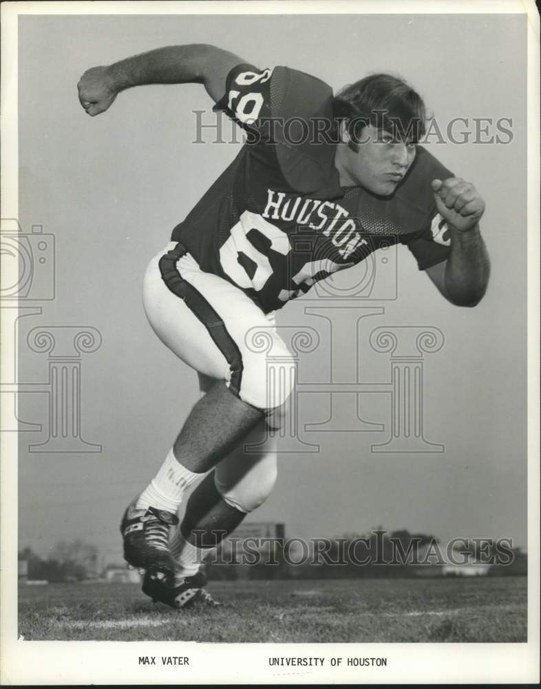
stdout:
[[180,613],[135,584],[19,588],[25,639],[526,641],[526,577],[211,582],[224,605]]

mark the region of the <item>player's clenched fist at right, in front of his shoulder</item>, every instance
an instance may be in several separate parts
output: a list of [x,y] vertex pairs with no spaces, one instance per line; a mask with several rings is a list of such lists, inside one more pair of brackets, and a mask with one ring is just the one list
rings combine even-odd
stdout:
[[439,214],[458,232],[469,232],[485,212],[485,201],[473,184],[458,177],[432,181]]

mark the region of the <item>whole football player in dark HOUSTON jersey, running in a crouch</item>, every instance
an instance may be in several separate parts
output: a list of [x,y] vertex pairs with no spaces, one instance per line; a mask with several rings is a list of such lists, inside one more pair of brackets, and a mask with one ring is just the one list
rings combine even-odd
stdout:
[[[177,608],[214,602],[201,562],[275,483],[266,426],[279,427],[295,378],[275,311],[396,242],[454,305],[476,305],[489,278],[485,204],[418,145],[425,107],[401,79],[374,74],[335,96],[315,76],[197,44],[87,70],[78,93],[96,116],[128,88],[194,82],[246,143],[145,275],[151,327],[198,372],[202,397],[120,527],[127,562],[147,570],[145,593]],[[247,338],[254,328],[272,358]]]

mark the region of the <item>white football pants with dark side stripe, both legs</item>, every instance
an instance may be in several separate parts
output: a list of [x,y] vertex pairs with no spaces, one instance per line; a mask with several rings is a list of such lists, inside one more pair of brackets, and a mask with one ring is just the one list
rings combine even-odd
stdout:
[[[170,242],[145,273],[143,304],[153,331],[198,372],[202,393],[215,380],[224,380],[241,400],[268,411],[269,426],[279,427],[293,390],[295,363],[273,313],[265,314],[231,282],[203,272],[178,247]],[[175,249],[176,254],[167,254]],[[276,440],[268,437],[266,423],[215,467],[220,495],[242,512],[261,505],[275,484]],[[256,444],[255,453],[247,450]]]

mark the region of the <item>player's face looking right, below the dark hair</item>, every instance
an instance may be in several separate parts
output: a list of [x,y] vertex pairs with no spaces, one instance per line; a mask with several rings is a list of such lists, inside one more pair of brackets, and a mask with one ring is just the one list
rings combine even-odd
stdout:
[[345,187],[365,187],[373,194],[390,196],[401,183],[415,158],[416,145],[369,125],[361,132],[354,151],[339,145],[336,164]]

